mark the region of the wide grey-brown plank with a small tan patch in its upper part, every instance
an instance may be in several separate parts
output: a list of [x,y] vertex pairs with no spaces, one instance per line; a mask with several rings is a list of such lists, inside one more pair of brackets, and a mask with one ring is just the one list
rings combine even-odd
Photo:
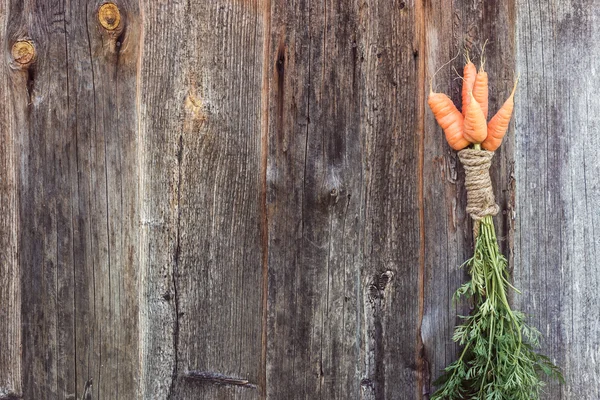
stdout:
[[143,396],[256,399],[261,9],[143,7]]

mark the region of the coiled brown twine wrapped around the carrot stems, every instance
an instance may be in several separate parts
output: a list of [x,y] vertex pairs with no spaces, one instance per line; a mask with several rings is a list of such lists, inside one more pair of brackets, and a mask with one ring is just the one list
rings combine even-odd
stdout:
[[492,157],[494,152],[487,150],[464,149],[458,152],[458,158],[465,168],[467,212],[475,221],[500,211],[490,179]]

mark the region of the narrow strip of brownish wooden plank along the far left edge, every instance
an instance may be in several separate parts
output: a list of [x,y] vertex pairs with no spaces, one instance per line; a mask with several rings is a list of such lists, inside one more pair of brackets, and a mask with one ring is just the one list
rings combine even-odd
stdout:
[[[6,32],[7,2],[0,2],[0,30]],[[0,47],[13,43],[0,35]],[[12,65],[18,68],[18,65]],[[16,72],[16,73],[15,73]],[[14,97],[10,86],[22,81],[6,63],[0,69],[0,398],[21,394],[21,280],[18,265],[18,183]],[[14,80],[13,80],[14,79]],[[19,84],[19,83],[16,83]],[[22,121],[21,121],[22,122]]]

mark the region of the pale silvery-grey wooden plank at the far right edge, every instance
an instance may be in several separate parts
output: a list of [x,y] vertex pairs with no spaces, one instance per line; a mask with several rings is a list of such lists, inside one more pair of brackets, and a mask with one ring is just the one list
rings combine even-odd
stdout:
[[516,296],[565,370],[552,399],[600,397],[600,10],[519,0]]

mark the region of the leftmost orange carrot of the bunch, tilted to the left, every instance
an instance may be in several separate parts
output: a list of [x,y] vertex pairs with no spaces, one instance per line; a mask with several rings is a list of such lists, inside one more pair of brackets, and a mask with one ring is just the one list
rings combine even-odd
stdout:
[[427,99],[429,108],[433,111],[436,121],[446,135],[446,141],[454,150],[462,150],[469,145],[463,137],[463,116],[456,109],[452,100],[443,93],[434,93],[429,89]]

